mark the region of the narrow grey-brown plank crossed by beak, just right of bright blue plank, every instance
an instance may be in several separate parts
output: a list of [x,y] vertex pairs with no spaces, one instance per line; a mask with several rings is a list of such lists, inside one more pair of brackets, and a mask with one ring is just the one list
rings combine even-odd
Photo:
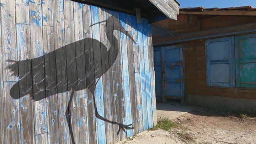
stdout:
[[[132,37],[132,19],[130,15],[126,14],[126,31],[127,35]],[[133,40],[127,36],[127,59],[129,71],[129,85],[130,85],[130,103],[132,111],[132,127],[133,135],[138,133],[137,124],[137,108],[135,95],[135,74],[134,74],[134,55],[133,55]]]

